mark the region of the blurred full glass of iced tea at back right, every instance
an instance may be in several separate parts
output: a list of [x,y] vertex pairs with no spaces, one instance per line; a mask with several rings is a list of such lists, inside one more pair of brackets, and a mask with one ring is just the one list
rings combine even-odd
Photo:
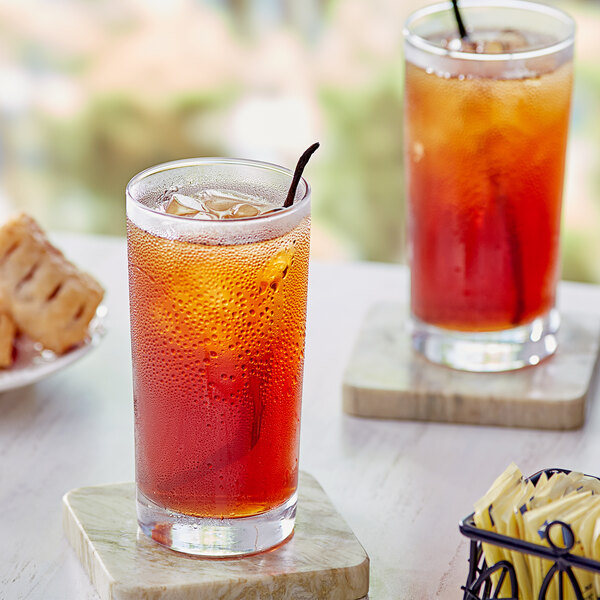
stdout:
[[405,165],[412,340],[469,371],[554,353],[572,19],[518,0],[409,17]]

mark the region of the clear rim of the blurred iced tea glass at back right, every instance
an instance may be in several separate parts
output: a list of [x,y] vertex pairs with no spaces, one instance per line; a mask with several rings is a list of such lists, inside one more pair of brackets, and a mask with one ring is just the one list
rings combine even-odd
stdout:
[[452,10],[452,2],[438,2],[436,4],[430,4],[419,8],[411,13],[404,23],[402,28],[402,35],[407,44],[410,44],[413,48],[427,52],[429,54],[436,54],[447,58],[459,59],[459,60],[470,60],[477,62],[500,62],[515,59],[531,59],[539,58],[541,56],[548,56],[550,54],[556,54],[561,50],[565,50],[573,45],[575,41],[575,21],[565,11],[554,6],[547,4],[541,4],[539,2],[530,2],[529,0],[497,0],[494,2],[484,2],[482,0],[462,0],[461,7],[464,8],[481,8],[486,10],[497,10],[502,8],[521,9],[529,11],[535,14],[545,14],[553,17],[557,22],[566,25],[569,28],[566,36],[561,37],[556,42],[552,42],[543,46],[539,46],[533,49],[515,50],[513,52],[502,52],[499,54],[478,54],[475,52],[462,52],[460,50],[449,50],[437,46],[425,38],[417,35],[411,31],[411,27],[414,26],[415,21]]

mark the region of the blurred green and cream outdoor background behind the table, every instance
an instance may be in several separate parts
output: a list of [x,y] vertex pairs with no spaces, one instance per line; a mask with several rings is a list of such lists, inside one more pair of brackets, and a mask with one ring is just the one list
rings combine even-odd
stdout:
[[[150,165],[318,140],[313,254],[403,261],[401,32],[427,3],[0,0],[0,212],[120,235]],[[563,278],[600,282],[600,2],[552,4],[578,26]]]

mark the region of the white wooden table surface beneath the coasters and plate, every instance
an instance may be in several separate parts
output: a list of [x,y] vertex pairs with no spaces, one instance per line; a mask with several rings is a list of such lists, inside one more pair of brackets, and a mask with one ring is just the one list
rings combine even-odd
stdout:
[[[133,410],[125,242],[54,235],[105,286],[108,333],[80,362],[0,395],[0,598],[97,599],[62,531],[76,487],[132,480]],[[371,558],[369,598],[462,598],[468,542],[458,521],[511,461],[600,474],[600,400],[573,432],[367,420],[341,410],[361,320],[408,298],[403,267],[313,261],[300,466]],[[562,283],[559,307],[600,316],[600,287]]]

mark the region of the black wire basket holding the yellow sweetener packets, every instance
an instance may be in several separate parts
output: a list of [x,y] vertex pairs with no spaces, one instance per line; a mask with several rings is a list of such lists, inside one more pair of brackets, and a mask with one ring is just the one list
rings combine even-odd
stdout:
[[[550,477],[555,473],[570,473],[570,471],[566,469],[544,469],[532,475],[529,480],[534,485],[537,484],[542,473],[546,473]],[[567,523],[552,521],[546,526],[544,535],[549,544],[548,547],[479,529],[475,526],[473,520],[474,514],[471,513],[458,525],[461,533],[471,540],[469,574],[466,585],[462,586],[464,591],[463,600],[484,600],[486,598],[519,600],[519,582],[513,564],[508,560],[501,560],[494,565],[487,565],[482,543],[493,544],[515,552],[531,554],[552,563],[542,581],[537,600],[565,600],[567,597],[566,590],[569,587],[573,590],[571,597],[574,594],[577,600],[584,600],[579,583],[573,574],[573,568],[584,569],[600,575],[600,562],[570,553],[570,550],[575,545],[575,536]],[[557,546],[553,542],[551,531],[554,528],[561,529],[565,542],[564,546]],[[550,584],[554,580],[558,584],[557,598],[548,595]],[[505,591],[507,588],[510,589],[509,596],[500,595],[501,593],[505,593],[505,591],[501,592],[503,588]]]

